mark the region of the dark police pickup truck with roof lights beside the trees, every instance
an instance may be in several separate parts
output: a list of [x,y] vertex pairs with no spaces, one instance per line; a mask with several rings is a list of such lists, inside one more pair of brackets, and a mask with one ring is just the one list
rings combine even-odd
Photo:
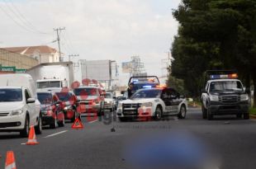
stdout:
[[201,93],[202,118],[211,120],[214,115],[236,115],[249,119],[249,95],[237,73],[213,72]]

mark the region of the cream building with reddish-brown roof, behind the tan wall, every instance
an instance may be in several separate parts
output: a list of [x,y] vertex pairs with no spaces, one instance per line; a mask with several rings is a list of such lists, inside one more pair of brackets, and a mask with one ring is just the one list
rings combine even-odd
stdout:
[[61,61],[59,51],[46,45],[4,48],[12,53],[22,54],[37,59],[39,63],[55,63]]

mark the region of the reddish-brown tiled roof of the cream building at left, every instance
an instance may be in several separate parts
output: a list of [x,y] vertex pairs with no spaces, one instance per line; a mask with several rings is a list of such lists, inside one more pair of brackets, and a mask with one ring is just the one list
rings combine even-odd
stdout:
[[56,49],[51,48],[50,46],[47,46],[47,45],[9,47],[9,48],[2,48],[2,49],[6,49],[10,52],[24,54],[24,55],[34,54],[35,51],[38,51],[40,54],[55,54],[56,52],[58,52]]

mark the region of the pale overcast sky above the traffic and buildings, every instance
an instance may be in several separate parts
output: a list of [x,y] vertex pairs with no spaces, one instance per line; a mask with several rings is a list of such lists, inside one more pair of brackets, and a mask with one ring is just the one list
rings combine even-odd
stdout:
[[[78,59],[111,59],[121,67],[139,55],[149,75],[163,75],[163,59],[177,34],[172,16],[180,0],[0,0],[0,47],[49,45]],[[76,77],[80,75],[76,71]],[[121,73],[121,84],[129,74]],[[78,79],[79,80],[79,79]]]

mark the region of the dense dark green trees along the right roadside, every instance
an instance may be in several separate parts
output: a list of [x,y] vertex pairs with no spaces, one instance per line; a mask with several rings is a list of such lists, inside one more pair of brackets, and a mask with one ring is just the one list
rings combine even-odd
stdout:
[[256,87],[255,7],[255,0],[183,0],[173,10],[179,29],[168,83],[198,98],[206,70],[235,69],[246,87]]

